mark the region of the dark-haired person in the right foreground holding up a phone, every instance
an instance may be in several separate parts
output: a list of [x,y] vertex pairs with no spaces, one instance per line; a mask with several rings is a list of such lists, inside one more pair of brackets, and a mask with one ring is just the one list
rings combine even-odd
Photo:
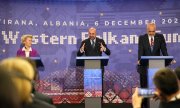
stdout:
[[[153,78],[155,84],[155,95],[160,99],[159,108],[179,108],[180,90],[177,76],[169,68],[158,70]],[[136,88],[132,96],[133,108],[141,108],[142,96],[138,95]]]

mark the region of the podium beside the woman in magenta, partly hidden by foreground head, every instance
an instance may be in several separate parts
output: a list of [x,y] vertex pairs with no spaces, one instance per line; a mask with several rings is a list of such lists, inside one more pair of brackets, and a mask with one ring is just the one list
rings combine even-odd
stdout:
[[39,71],[44,71],[44,64],[41,61],[40,57],[30,57],[31,60],[33,60],[36,63],[36,68]]

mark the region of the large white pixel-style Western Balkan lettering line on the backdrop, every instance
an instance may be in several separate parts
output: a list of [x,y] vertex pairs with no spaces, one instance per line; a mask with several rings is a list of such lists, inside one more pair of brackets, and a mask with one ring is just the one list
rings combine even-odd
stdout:
[[[168,33],[163,34],[167,43],[180,43],[180,35],[178,33]],[[20,42],[21,35],[19,31],[2,31],[2,37],[4,40],[4,44],[17,44]],[[101,35],[97,35],[97,37],[103,39],[106,44],[137,44],[138,43],[138,35],[137,34],[121,34],[115,35],[112,32],[102,32]],[[81,32],[81,37],[77,37],[75,35],[51,35],[48,36],[46,34],[33,35],[32,44],[77,44],[84,39],[88,38],[88,32]]]

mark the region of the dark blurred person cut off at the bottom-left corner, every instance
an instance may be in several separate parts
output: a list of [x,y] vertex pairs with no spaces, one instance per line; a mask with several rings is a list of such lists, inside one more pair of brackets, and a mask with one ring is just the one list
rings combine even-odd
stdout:
[[0,108],[21,108],[20,106],[20,98],[12,76],[0,66]]

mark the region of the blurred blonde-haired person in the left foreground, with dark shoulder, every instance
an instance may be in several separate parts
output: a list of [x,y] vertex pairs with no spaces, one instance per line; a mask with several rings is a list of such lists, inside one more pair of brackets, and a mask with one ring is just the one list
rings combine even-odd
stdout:
[[5,67],[11,74],[13,83],[20,96],[22,108],[55,108],[32,94],[32,81],[34,69],[28,61],[22,58],[8,58],[1,61],[0,66]]

